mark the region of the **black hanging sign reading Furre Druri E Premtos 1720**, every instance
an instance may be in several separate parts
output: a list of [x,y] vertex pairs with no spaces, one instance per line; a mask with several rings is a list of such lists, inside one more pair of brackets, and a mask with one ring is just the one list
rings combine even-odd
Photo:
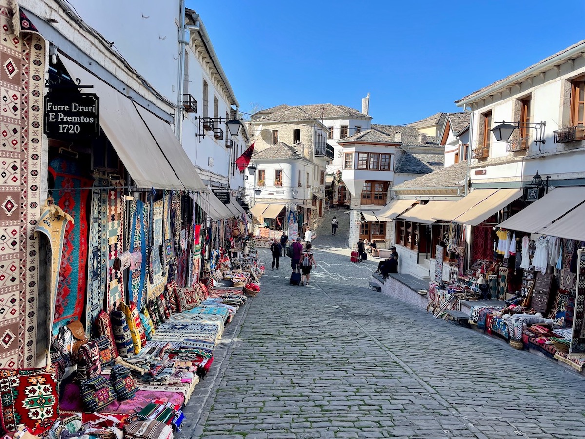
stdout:
[[99,135],[99,97],[94,93],[57,90],[44,98],[44,133],[51,139]]

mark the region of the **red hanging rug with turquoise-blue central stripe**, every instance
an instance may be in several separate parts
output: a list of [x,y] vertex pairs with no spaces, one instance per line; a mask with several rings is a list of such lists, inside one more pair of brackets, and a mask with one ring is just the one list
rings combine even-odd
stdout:
[[88,190],[91,180],[81,176],[77,163],[65,157],[55,157],[49,163],[49,172],[54,178],[54,203],[73,217],[75,222],[67,224],[63,256],[59,272],[59,285],[55,300],[53,332],[57,334],[61,322],[81,320],[85,306],[87,284],[87,208]]

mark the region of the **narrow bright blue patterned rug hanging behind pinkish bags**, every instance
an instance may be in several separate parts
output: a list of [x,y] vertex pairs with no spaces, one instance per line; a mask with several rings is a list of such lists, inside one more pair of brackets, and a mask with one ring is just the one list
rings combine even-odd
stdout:
[[142,309],[146,303],[146,250],[148,236],[148,217],[149,205],[144,205],[142,201],[135,200],[130,203],[129,217],[130,224],[130,252],[140,252],[142,255],[142,263],[130,269],[130,297],[132,301],[137,304],[139,309]]

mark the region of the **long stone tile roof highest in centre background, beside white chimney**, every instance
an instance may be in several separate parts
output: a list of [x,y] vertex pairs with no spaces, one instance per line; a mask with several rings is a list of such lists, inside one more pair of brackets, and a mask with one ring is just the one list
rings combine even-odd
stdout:
[[312,105],[277,105],[277,107],[263,109],[250,118],[253,122],[291,122],[305,121],[307,119],[321,119],[321,117],[362,117],[371,119],[372,116],[363,114],[355,108],[344,105],[312,104]]

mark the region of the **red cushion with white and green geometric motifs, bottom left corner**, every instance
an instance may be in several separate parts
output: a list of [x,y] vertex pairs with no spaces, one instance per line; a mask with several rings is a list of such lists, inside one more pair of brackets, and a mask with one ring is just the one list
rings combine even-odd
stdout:
[[54,368],[0,369],[0,404],[4,430],[48,430],[59,414]]

